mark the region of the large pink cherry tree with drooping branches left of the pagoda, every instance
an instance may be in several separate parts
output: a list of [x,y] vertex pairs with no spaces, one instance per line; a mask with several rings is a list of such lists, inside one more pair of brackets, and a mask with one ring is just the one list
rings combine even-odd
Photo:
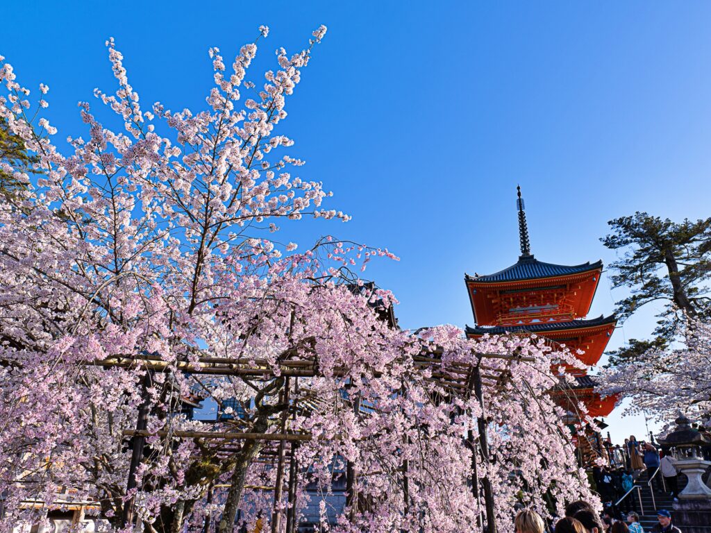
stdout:
[[[277,471],[258,460],[284,432],[304,436],[292,511],[314,498],[307,485],[325,496],[344,468],[359,473],[338,531],[483,524],[474,463],[501,528],[517,503],[548,515],[594,500],[547,395],[552,365],[572,355],[537,338],[394,327],[392,294],[353,273],[395,259],[387,249],[277,239],[304,215],[348,220],[294,175],[303,161],[277,132],[325,33],[277,50],[261,87],[246,79],[258,40],[230,70],[211,49],[199,112],[142,107],[109,40],[117,90],[95,97],[119,127],[82,102],[87,136],[68,150],[44,116],[48,87],[33,104],[0,58],[0,120],[31,154],[1,169],[22,186],[0,198],[0,531],[45,520],[64,487],[96,501],[112,531],[268,522],[288,505],[259,489]],[[483,394],[462,381],[473,367],[493,376]],[[192,419],[189,397],[232,416]],[[326,522],[323,498],[321,510]]]

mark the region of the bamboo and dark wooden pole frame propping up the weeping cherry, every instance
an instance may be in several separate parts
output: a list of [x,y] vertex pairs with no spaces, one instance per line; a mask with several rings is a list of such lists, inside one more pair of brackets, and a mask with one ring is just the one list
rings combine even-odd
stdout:
[[[503,368],[498,368],[493,365],[482,365],[482,360],[506,360],[509,365],[511,362],[531,362],[533,358],[522,357],[520,355],[503,355],[503,354],[480,354],[476,353],[477,364],[468,365],[459,362],[444,362],[441,358],[437,358],[442,352],[434,350],[433,352],[423,353],[414,357],[415,370],[430,369],[429,377],[425,378],[427,382],[435,386],[442,387],[449,395],[466,395],[471,394],[472,388],[481,404],[482,413],[484,412],[483,403],[483,384],[486,382],[487,387],[503,387],[510,379],[510,370],[508,365]],[[434,357],[432,357],[434,355]],[[227,375],[227,376],[242,376],[254,377],[257,379],[274,379],[277,374],[285,377],[287,380],[286,389],[284,392],[285,402],[289,402],[289,379],[294,378],[295,392],[298,391],[296,381],[299,377],[317,377],[321,375],[318,364],[314,360],[284,360],[278,364],[264,359],[231,359],[228,357],[198,357],[196,361],[177,361],[166,362],[161,357],[154,355],[141,355],[139,357],[111,357],[107,360],[95,361],[95,365],[101,367],[134,367],[138,366],[148,370],[146,375],[151,372],[169,372],[171,370],[181,370],[197,375]],[[481,372],[485,370],[486,373]],[[379,372],[374,372],[374,375],[379,375]],[[348,377],[349,370],[347,368],[336,368],[331,375],[335,377]],[[314,398],[311,402],[303,402],[301,409],[315,410],[319,407],[319,399]],[[354,402],[354,410],[356,414],[364,414],[360,410],[359,399]],[[314,438],[319,440],[338,438],[338,436],[319,436],[314,437],[311,434],[294,434],[287,431],[287,417],[290,413],[296,412],[294,409],[284,409],[282,413],[282,421],[280,424],[279,433],[255,433],[255,432],[236,432],[236,431],[147,431],[144,426],[137,424],[135,430],[124,430],[124,436],[134,438],[134,443],[141,443],[141,452],[143,443],[147,437],[159,436],[168,438],[201,438],[206,440],[223,440],[223,441],[267,441],[277,443],[277,449],[266,449],[262,452],[262,457],[257,459],[257,462],[274,464],[277,463],[277,480],[274,487],[267,485],[247,485],[245,488],[252,490],[274,490],[274,510],[272,512],[272,533],[278,532],[282,527],[282,490],[284,487],[284,465],[289,458],[288,467],[288,505],[286,512],[286,533],[294,533],[296,531],[296,487],[299,476],[299,465],[296,461],[295,450],[299,446],[299,442],[311,441]],[[474,441],[473,434],[469,434],[470,446],[474,447],[472,456],[472,491],[475,497],[479,498],[479,483],[483,488],[483,495],[486,505],[486,518],[488,524],[488,533],[496,533],[496,523],[493,517],[493,493],[491,490],[491,482],[484,476],[479,478],[477,475],[477,453],[476,448],[479,448],[483,461],[488,461],[488,443],[486,436],[486,420],[483,416],[479,419],[479,439]],[[287,454],[287,442],[290,453]],[[219,446],[219,445],[218,445]],[[137,448],[134,448],[137,451]],[[230,448],[220,448],[222,453],[230,453]],[[139,458],[140,461],[140,458]],[[409,507],[409,476],[408,466],[405,463],[403,474],[403,490],[405,496],[405,511]],[[372,473],[358,473],[367,477]],[[130,479],[130,477],[129,477]],[[346,465],[346,505],[351,507],[353,515],[358,510],[358,495],[357,495],[357,480],[354,465],[350,462]],[[213,488],[222,488],[227,485],[214,485]],[[128,504],[129,502],[127,502]],[[128,508],[128,507],[127,507]],[[130,515],[129,515],[130,516]],[[481,524],[479,524],[481,525]],[[206,527],[209,527],[209,522],[206,522]]]

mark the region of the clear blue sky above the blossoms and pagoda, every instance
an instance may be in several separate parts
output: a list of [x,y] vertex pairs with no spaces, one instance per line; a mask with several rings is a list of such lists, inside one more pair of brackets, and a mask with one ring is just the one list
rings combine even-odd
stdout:
[[[283,131],[307,161],[300,175],[323,181],[353,220],[284,238],[389,247],[402,261],[367,275],[395,291],[408,328],[472,323],[464,272],[518,257],[517,183],[547,262],[611,262],[606,221],[635,210],[709,215],[711,4],[24,1],[3,13],[0,54],[24,85],[50,86],[59,138],[83,133],[77,101],[114,87],[109,36],[144,104],[198,109],[210,46],[229,60],[269,26],[260,80],[274,49],[296,51],[326,24]],[[591,316],[622,296],[603,278]],[[652,315],[610,348],[648,335]],[[643,433],[638,419],[610,421],[614,438]]]

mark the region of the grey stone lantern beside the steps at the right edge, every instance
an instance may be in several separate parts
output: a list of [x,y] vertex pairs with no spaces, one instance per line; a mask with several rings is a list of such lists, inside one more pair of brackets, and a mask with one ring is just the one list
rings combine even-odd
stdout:
[[707,533],[711,524],[711,488],[701,476],[711,466],[705,461],[701,446],[711,444],[711,439],[693,429],[686,416],[675,420],[676,429],[659,443],[671,448],[676,458],[676,469],[688,478],[684,490],[679,492],[679,501],[674,502],[674,524],[685,533]]

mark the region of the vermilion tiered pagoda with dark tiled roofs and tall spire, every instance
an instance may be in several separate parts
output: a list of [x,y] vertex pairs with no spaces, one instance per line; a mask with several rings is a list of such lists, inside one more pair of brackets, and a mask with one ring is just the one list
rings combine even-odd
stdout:
[[[517,333],[538,335],[559,348],[565,346],[587,367],[597,364],[614,331],[614,316],[585,318],[602,274],[602,261],[573,266],[544,263],[530,252],[525,207],[518,187],[518,230],[521,254],[506,269],[480,276],[465,275],[466,289],[474,313],[474,328],[466,327],[469,338]],[[577,353],[580,350],[582,355]],[[594,378],[586,370],[566,367],[574,376],[572,387],[561,385],[554,392],[558,403],[571,414],[574,399],[582,402],[590,416],[607,416],[616,397],[594,392]]]

